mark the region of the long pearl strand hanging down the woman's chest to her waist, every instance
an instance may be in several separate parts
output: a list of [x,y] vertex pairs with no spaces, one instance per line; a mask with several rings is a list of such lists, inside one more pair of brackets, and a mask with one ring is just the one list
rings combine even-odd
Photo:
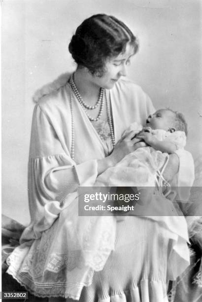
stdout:
[[[72,76],[70,77],[70,79],[72,78]],[[71,158],[74,160],[74,119],[73,119],[73,106],[72,106],[72,100],[73,100],[73,96],[72,96],[72,91],[74,92],[72,85],[70,83],[70,79],[69,79],[69,84],[70,84],[70,112],[71,112]],[[75,84],[74,84],[75,85]],[[76,88],[77,89],[77,88]],[[101,88],[102,89],[102,88]],[[77,90],[78,91],[78,90]],[[75,92],[74,92],[75,94]],[[106,96],[106,90],[103,89],[103,96],[105,98],[105,104],[106,104],[106,113],[107,113],[107,121],[109,124],[109,130],[110,130],[110,137],[111,137],[111,142],[112,142],[112,146],[114,148],[115,146],[115,137],[114,137],[114,131],[113,131],[113,124],[112,124],[112,118],[111,118],[111,113],[110,113],[110,106],[108,104],[108,100],[107,100],[107,96]],[[104,100],[104,98],[102,97],[102,99]],[[103,103],[102,100],[102,103]],[[79,102],[80,103],[80,102]],[[102,106],[103,107],[103,106]],[[85,108],[85,107],[83,107]],[[102,109],[103,110],[103,109]],[[86,110],[85,110],[86,112]],[[87,116],[89,117],[89,115],[87,114]],[[90,117],[89,117],[90,119]],[[95,120],[95,119],[94,119]]]

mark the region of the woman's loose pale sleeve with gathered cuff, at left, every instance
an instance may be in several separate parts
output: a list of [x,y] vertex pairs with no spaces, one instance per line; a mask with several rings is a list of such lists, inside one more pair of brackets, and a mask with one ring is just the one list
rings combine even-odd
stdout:
[[79,185],[92,186],[97,178],[97,160],[76,165],[59,133],[57,125],[43,113],[39,105],[34,108],[30,144],[28,192],[31,225],[24,239],[37,239],[48,229],[75,198]]

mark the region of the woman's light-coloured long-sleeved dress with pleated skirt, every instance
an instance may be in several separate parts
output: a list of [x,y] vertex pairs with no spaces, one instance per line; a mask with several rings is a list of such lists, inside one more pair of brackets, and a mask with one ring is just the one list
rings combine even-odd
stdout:
[[[189,264],[185,220],[127,217],[116,229],[109,229],[107,219],[113,217],[106,217],[98,238],[103,221],[78,217],[77,184],[95,184],[97,159],[108,155],[109,146],[73,97],[75,157],[71,158],[68,77],[51,93],[43,90],[34,109],[29,159],[32,220],[21,245],[8,259],[7,272],[39,297],[61,296],[80,302],[126,302],[130,297],[132,302],[167,302],[167,280],[176,278]],[[116,142],[134,120],[142,124],[154,112],[148,96],[129,80],[117,82],[107,97]],[[186,160],[181,158],[189,159],[190,154],[184,151],[179,156],[182,171]],[[81,229],[82,219],[90,229],[88,240]],[[92,259],[88,259],[89,243]]]

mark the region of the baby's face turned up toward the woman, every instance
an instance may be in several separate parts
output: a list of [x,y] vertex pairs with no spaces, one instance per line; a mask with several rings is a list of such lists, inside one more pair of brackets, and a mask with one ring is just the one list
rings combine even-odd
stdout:
[[150,114],[146,120],[146,126],[152,129],[162,129],[168,131],[173,127],[175,114],[167,109],[157,110]]

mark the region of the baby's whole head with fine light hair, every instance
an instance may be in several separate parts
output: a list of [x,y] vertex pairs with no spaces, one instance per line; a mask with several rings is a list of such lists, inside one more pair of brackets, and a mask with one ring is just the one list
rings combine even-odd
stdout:
[[169,132],[184,131],[187,135],[187,123],[183,114],[171,109],[159,109],[150,114],[146,120],[146,126]]

